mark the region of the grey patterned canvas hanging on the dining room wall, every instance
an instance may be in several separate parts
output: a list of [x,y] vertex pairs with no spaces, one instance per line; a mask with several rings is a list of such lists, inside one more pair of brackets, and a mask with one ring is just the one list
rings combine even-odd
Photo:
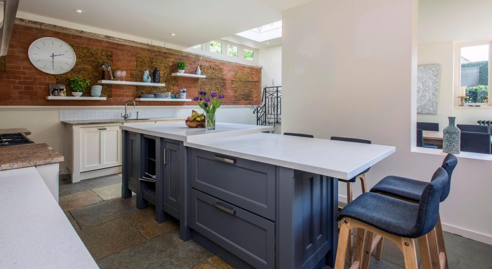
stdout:
[[417,67],[417,113],[437,114],[440,70],[440,64]]

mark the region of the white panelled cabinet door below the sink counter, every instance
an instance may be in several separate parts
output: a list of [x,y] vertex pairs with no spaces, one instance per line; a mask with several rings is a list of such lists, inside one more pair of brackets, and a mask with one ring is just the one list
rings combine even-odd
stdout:
[[80,171],[121,165],[119,126],[80,128]]

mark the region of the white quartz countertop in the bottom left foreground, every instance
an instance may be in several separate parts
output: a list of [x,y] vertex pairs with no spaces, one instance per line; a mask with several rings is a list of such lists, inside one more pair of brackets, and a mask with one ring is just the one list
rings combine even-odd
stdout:
[[0,268],[98,268],[36,168],[0,171]]

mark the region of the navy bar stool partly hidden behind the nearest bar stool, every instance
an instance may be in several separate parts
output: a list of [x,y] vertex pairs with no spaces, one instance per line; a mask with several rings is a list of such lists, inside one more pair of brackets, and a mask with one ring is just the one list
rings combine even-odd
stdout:
[[[443,189],[440,197],[440,202],[444,201],[449,195],[449,190],[451,188],[451,176],[453,171],[458,164],[458,158],[453,154],[447,154],[442,162],[441,167],[446,170],[448,174],[447,185]],[[427,182],[412,180],[411,178],[405,178],[400,176],[386,176],[378,184],[376,184],[371,192],[376,192],[388,196],[392,196],[398,199],[406,200],[411,203],[419,203],[421,200],[422,193],[427,186]],[[382,238],[380,242],[382,242]],[[447,262],[446,248],[444,246],[444,237],[442,233],[441,217],[438,217],[436,223],[436,229],[430,233],[429,236],[430,246],[433,249],[432,253],[435,253],[437,257],[430,257],[433,263],[433,267],[441,268],[440,258],[444,260],[444,268],[449,268]],[[379,244],[378,243],[378,244]],[[372,252],[374,249],[371,249]],[[378,251],[380,251],[378,249]]]

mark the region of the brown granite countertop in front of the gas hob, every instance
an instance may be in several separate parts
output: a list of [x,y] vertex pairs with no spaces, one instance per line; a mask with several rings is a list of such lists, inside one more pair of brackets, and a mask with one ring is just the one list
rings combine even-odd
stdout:
[[54,164],[64,161],[63,155],[48,144],[25,144],[0,147],[0,171]]

